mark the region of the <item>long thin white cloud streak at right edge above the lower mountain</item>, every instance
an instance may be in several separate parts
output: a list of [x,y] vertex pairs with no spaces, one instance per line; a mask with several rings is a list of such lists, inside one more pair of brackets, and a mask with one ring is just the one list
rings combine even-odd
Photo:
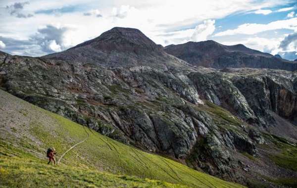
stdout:
[[270,31],[276,29],[291,29],[297,31],[297,18],[278,20],[270,22],[268,24],[246,23],[238,26],[237,29],[229,29],[226,31],[219,32],[215,34],[215,36],[227,36],[236,34],[253,35],[263,31]]

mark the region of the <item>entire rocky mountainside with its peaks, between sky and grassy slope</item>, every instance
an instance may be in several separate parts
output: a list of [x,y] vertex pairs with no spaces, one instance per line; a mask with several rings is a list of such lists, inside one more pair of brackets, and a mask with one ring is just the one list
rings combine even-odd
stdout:
[[295,67],[242,45],[163,48],[137,29],[113,28],[44,57],[1,52],[0,87],[196,170],[285,187],[297,177]]

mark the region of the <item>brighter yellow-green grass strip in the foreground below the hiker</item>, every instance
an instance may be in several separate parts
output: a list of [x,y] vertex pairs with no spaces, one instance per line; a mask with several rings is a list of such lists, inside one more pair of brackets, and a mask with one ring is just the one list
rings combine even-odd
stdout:
[[0,187],[39,188],[186,188],[157,180],[113,175],[78,167],[47,165],[11,145],[0,144]]

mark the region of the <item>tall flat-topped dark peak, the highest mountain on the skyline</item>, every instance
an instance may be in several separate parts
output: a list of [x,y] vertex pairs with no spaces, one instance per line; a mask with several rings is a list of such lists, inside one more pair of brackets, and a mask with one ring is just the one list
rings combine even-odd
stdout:
[[108,67],[150,65],[162,68],[187,64],[165,53],[162,46],[156,45],[138,29],[119,27],[76,47],[44,57]]

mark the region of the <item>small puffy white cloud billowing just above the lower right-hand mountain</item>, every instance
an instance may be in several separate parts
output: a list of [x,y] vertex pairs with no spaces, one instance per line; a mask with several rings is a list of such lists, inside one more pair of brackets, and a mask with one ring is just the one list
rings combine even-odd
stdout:
[[192,41],[205,41],[215,30],[215,20],[205,20],[203,24],[195,27],[194,33],[191,37]]

